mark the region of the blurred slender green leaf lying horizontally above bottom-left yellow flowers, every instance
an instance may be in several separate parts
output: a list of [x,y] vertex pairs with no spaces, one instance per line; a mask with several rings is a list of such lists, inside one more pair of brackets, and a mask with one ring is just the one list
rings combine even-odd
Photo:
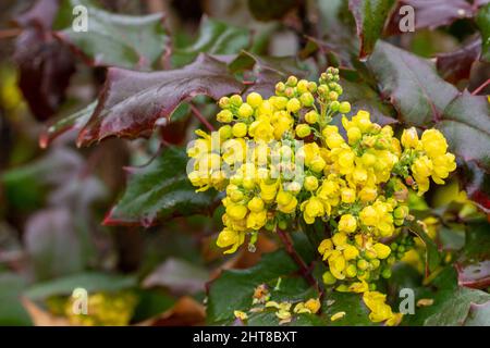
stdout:
[[29,299],[46,299],[54,295],[71,295],[77,287],[93,291],[119,291],[136,286],[133,276],[117,275],[109,273],[86,272],[78,273],[53,281],[38,283],[29,287],[25,293]]

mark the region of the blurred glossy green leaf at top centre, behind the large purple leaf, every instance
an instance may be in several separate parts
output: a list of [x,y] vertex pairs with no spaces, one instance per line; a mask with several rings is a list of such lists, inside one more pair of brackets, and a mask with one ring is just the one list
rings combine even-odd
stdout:
[[172,62],[173,66],[182,66],[191,63],[201,52],[234,54],[249,46],[250,33],[248,29],[204,16],[197,39],[187,47],[175,48],[172,53]]

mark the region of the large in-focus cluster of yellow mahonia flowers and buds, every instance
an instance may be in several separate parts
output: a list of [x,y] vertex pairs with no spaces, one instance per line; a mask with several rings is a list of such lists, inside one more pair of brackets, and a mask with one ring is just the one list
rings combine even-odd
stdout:
[[[318,246],[328,266],[323,283],[362,293],[370,320],[393,325],[401,314],[392,312],[373,281],[390,277],[392,264],[414,245],[401,234],[414,219],[408,189],[421,196],[430,177],[444,184],[455,157],[438,129],[419,138],[409,128],[399,139],[367,111],[348,116],[339,80],[339,70],[329,67],[318,83],[290,76],[268,99],[257,92],[245,100],[223,97],[217,114],[223,125],[212,134],[196,130],[187,174],[197,191],[225,192],[217,240],[228,248],[224,253],[235,252],[247,235],[254,250],[261,229],[321,221],[330,231]],[[336,116],[344,132],[331,124]]]

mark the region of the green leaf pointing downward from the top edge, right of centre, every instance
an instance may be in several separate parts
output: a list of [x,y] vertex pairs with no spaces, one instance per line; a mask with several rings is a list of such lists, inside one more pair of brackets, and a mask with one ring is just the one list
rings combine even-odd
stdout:
[[348,8],[356,21],[357,36],[360,38],[360,59],[365,59],[372,53],[394,3],[395,0],[348,1]]

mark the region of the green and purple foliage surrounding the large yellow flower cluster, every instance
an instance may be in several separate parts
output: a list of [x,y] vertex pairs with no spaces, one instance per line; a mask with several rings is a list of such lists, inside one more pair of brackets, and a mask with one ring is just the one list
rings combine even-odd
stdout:
[[[89,10],[89,33],[71,26],[76,4]],[[406,4],[415,33],[400,30]],[[277,80],[329,65],[354,111],[395,129],[434,126],[457,156],[450,185],[411,197],[429,233],[379,282],[393,306],[401,288],[415,290],[416,314],[402,324],[489,324],[489,1],[33,0],[0,10],[0,324],[231,324],[241,310],[249,324],[277,325],[272,310],[250,312],[257,287],[277,301],[317,297],[273,251],[274,234],[254,253],[221,254],[219,197],[194,194],[183,146],[203,120],[216,125],[220,97],[271,95]],[[316,246],[291,235],[321,277]],[[73,312],[76,288],[88,314]],[[356,294],[324,294],[321,307],[290,324],[372,324]]]

